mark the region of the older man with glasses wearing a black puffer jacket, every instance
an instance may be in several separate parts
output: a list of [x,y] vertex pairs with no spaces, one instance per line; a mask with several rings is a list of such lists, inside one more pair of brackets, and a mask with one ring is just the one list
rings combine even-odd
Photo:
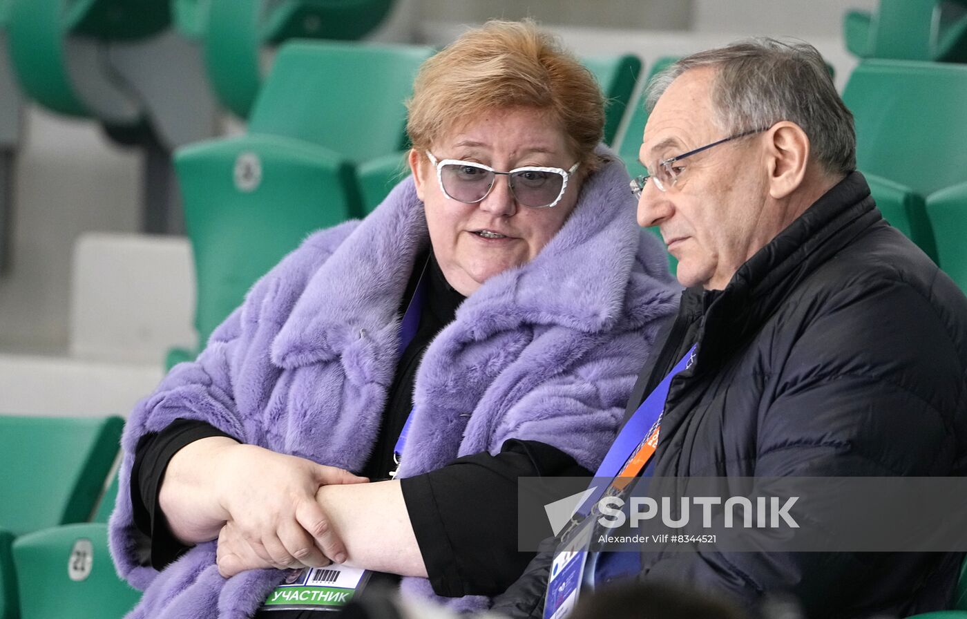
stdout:
[[[876,209],[818,52],[700,52],[648,95],[638,221],[659,226],[689,288],[629,409],[695,346],[664,400],[654,475],[963,475],[967,300]],[[947,607],[961,558],[699,549],[643,554],[634,577],[749,607],[790,592],[810,617],[907,616]],[[541,616],[547,565],[496,609]]]

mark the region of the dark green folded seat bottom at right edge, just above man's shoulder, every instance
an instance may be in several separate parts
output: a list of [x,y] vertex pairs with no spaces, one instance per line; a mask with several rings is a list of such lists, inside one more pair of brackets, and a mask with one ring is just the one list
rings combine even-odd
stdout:
[[[937,263],[967,291],[967,183],[930,194],[926,216],[936,239]],[[967,591],[964,596],[967,610]]]

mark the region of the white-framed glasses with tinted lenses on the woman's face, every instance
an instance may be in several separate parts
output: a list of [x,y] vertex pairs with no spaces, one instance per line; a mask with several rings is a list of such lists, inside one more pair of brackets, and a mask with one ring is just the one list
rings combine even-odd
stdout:
[[568,191],[568,181],[578,163],[571,169],[527,165],[515,167],[510,172],[498,172],[489,165],[478,162],[461,162],[445,159],[438,162],[433,154],[426,151],[429,162],[436,167],[436,178],[444,195],[464,204],[476,204],[483,200],[493,189],[497,175],[506,176],[511,187],[513,199],[531,208],[552,208]]

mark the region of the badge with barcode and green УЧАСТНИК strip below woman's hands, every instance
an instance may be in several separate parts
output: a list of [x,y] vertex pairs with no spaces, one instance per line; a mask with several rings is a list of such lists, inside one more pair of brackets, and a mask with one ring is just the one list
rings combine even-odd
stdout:
[[261,609],[339,610],[359,595],[368,580],[366,570],[343,565],[289,570]]

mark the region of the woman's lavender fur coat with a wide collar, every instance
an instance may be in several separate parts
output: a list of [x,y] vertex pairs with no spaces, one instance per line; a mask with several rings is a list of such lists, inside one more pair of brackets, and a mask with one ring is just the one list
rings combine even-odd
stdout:
[[[510,438],[542,441],[597,467],[678,293],[658,240],[634,221],[628,182],[624,166],[609,158],[543,250],[487,280],[430,343],[401,476],[497,454]],[[138,403],[122,439],[121,491],[110,520],[118,570],[145,591],[130,618],[249,617],[283,574],[222,578],[214,542],[161,573],[146,567],[148,542],[132,521],[129,492],[138,439],[182,417],[360,470],[396,368],[396,310],[427,244],[423,203],[407,179],[366,220],[309,236],[252,287],[197,361],[173,368]],[[423,578],[404,578],[402,586],[432,596]]]

